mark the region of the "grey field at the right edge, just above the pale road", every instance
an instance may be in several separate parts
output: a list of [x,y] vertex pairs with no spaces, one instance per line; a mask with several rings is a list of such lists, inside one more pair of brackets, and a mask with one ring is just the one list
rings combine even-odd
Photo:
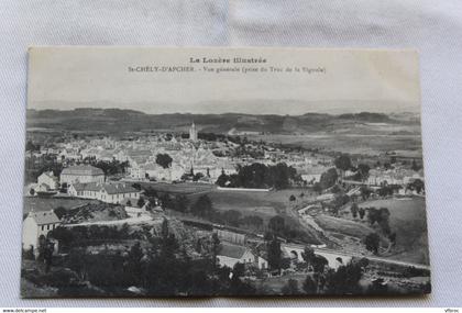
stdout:
[[392,232],[396,232],[396,247],[391,258],[429,264],[425,199],[371,200],[360,206],[388,208],[389,225]]

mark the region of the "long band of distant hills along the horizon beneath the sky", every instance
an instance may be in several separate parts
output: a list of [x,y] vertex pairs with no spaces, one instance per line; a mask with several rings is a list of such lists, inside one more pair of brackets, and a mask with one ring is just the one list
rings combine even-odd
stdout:
[[67,131],[99,131],[109,133],[162,131],[186,132],[195,122],[200,132],[222,133],[261,132],[274,134],[336,132],[361,128],[367,123],[418,124],[418,116],[400,116],[399,113],[361,112],[349,114],[306,113],[302,115],[223,114],[146,114],[122,109],[28,110],[28,127]]

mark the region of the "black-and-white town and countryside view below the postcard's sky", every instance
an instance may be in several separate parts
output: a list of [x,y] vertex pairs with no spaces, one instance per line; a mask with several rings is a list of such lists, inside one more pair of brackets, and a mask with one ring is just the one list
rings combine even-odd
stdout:
[[419,121],[28,110],[21,293],[429,293]]

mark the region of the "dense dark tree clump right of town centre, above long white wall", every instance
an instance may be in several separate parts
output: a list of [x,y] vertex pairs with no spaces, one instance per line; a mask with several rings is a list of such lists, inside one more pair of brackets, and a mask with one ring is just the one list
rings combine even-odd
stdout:
[[275,166],[254,163],[239,166],[238,174],[227,175],[224,171],[218,177],[217,185],[233,188],[275,188],[285,189],[295,182],[300,182],[301,177],[295,168],[279,163]]

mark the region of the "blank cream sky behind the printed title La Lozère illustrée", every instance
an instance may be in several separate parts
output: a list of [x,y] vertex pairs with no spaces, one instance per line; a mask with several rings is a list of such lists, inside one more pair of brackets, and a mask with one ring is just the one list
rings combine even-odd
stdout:
[[[29,109],[294,115],[420,110],[413,51],[36,47],[29,55]],[[266,63],[234,64],[234,57]],[[175,70],[138,70],[146,67]],[[221,68],[239,71],[217,72]]]

